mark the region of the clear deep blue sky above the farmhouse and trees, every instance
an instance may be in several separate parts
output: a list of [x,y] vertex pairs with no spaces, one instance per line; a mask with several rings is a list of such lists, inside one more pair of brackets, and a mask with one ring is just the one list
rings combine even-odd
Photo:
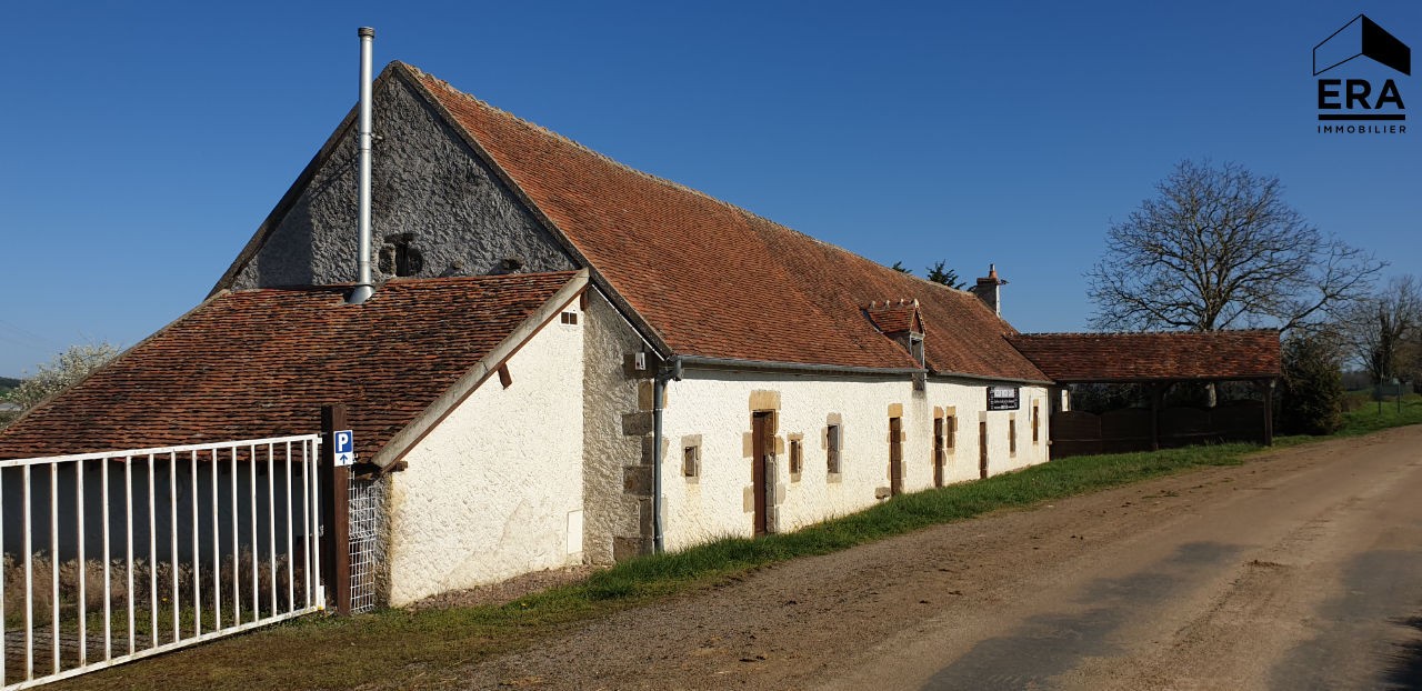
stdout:
[[995,262],[1024,331],[1086,326],[1108,225],[1183,158],[1416,273],[1422,77],[1391,74],[1413,132],[1314,129],[1313,47],[1359,11],[1422,47],[1415,0],[11,3],[0,375],[196,306],[354,104],[358,26],[377,67],[877,262]]

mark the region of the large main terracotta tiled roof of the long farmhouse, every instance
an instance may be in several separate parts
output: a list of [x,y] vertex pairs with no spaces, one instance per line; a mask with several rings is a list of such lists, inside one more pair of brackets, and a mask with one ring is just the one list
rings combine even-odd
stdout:
[[917,367],[869,320],[916,297],[937,371],[1042,381],[1015,333],[968,293],[893,272],[701,192],[617,164],[404,64],[677,354]]

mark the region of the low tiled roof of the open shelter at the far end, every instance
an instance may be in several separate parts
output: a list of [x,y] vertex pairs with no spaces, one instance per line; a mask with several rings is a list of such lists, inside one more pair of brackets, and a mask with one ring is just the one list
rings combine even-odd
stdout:
[[1017,334],[1008,341],[1061,382],[1280,375],[1278,331]]

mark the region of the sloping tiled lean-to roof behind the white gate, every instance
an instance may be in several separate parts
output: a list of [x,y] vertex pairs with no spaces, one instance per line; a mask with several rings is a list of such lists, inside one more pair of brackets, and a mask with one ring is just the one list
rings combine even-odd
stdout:
[[0,458],[309,434],[344,402],[371,459],[573,276],[222,293],[0,432]]

